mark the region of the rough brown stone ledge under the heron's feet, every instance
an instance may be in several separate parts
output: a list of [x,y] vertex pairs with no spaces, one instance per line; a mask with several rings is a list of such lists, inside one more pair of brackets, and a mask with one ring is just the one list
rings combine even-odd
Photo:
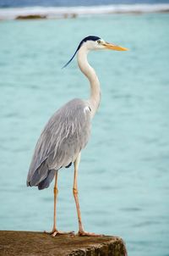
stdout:
[[1,256],[126,256],[120,237],[71,237],[28,231],[0,231]]

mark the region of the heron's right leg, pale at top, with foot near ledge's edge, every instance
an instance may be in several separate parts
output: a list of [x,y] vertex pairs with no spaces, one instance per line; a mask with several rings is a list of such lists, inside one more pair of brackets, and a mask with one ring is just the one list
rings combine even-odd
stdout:
[[76,203],[76,209],[77,209],[77,214],[78,214],[78,221],[79,221],[79,236],[86,236],[86,237],[100,237],[101,235],[97,235],[95,233],[90,233],[86,232],[84,230],[84,227],[82,225],[82,220],[81,220],[81,214],[80,214],[80,209],[79,209],[79,197],[78,197],[78,168],[79,168],[79,162],[80,162],[80,153],[78,158],[74,162],[74,187],[73,187],[73,192],[74,192],[74,200]]

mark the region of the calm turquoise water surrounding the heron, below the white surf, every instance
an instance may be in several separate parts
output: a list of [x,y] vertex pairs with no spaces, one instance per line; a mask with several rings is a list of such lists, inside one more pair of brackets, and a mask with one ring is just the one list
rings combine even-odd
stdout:
[[[169,15],[0,23],[0,229],[52,229],[52,186],[25,181],[35,142],[63,103],[89,95],[73,55],[101,36],[129,52],[90,53],[101,107],[79,168],[85,230],[123,237],[131,256],[169,255]],[[77,231],[73,168],[59,171],[57,223]]]

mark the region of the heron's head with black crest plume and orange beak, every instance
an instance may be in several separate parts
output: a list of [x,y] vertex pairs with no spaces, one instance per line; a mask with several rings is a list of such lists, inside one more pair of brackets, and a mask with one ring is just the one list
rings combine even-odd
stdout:
[[101,37],[98,36],[86,36],[80,43],[79,47],[77,47],[74,55],[67,64],[63,66],[65,68],[68,66],[68,64],[73,60],[76,53],[79,51],[79,49],[84,48],[86,51],[90,50],[103,50],[103,49],[109,49],[114,51],[128,51],[128,48],[120,47],[115,44],[112,44],[110,42],[105,42]]

